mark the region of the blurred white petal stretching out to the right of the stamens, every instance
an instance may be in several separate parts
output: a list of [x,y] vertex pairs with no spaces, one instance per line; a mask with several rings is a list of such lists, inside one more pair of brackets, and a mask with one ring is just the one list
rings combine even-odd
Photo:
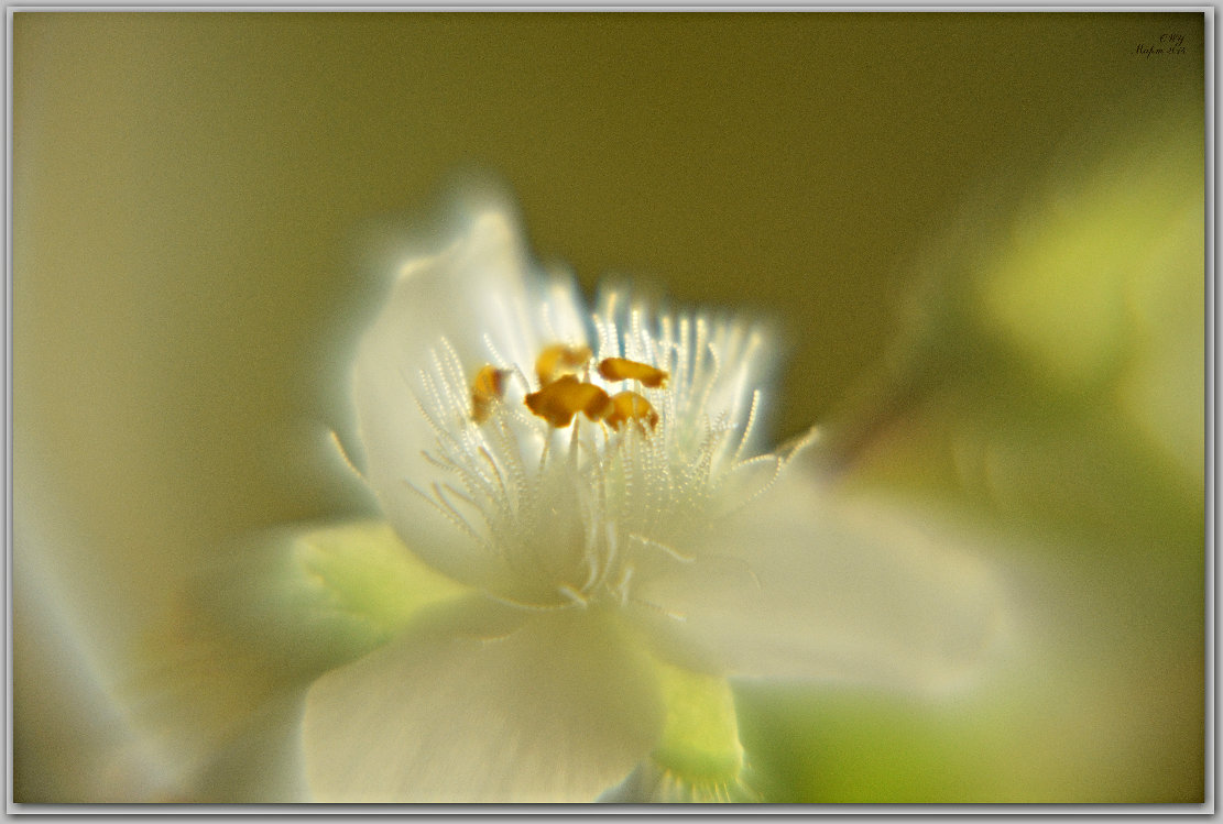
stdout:
[[695,562],[638,587],[674,616],[651,624],[731,675],[954,686],[1005,624],[997,577],[920,521],[829,494],[791,466]]

